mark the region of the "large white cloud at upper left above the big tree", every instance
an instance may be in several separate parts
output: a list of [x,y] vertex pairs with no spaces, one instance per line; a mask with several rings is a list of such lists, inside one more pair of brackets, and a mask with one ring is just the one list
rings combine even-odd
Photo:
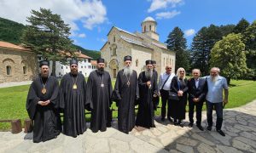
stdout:
[[1,0],[0,16],[27,24],[26,17],[31,16],[31,10],[39,8],[49,8],[54,14],[61,14],[72,31],[79,30],[78,20],[90,30],[107,20],[107,9],[99,0]]

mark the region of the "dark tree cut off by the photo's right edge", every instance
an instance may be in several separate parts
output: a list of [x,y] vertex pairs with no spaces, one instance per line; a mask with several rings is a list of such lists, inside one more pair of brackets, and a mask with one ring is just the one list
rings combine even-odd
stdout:
[[256,20],[243,33],[243,41],[247,50],[247,66],[251,69],[250,77],[256,80]]

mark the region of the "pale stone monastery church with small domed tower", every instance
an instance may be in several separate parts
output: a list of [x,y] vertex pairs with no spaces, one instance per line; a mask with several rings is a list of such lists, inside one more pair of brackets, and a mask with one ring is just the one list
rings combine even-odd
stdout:
[[165,72],[166,65],[175,68],[175,52],[168,50],[165,43],[159,42],[159,34],[156,32],[157,22],[152,17],[143,20],[142,33],[131,33],[113,26],[108,32],[108,41],[101,48],[101,56],[105,59],[106,71],[115,78],[117,72],[124,67],[125,55],[131,55],[131,68],[139,74],[145,70],[145,61],[156,61],[156,71]]

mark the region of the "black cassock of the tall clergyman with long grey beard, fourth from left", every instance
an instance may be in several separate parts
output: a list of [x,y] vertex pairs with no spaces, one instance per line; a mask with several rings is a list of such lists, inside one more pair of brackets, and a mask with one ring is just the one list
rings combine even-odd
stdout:
[[[128,84],[127,84],[128,83]],[[129,133],[135,126],[135,101],[139,97],[137,72],[132,71],[131,76],[125,76],[124,70],[119,71],[113,89],[113,101],[119,107],[119,131]]]

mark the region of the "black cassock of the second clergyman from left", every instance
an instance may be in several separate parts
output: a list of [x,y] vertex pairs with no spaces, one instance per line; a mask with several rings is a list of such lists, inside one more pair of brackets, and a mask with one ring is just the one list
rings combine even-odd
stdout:
[[[75,83],[76,82],[76,83]],[[77,88],[73,85],[76,84]],[[82,74],[73,76],[66,74],[61,80],[60,102],[64,113],[63,133],[76,137],[86,130],[85,122],[85,96],[86,82]]]

